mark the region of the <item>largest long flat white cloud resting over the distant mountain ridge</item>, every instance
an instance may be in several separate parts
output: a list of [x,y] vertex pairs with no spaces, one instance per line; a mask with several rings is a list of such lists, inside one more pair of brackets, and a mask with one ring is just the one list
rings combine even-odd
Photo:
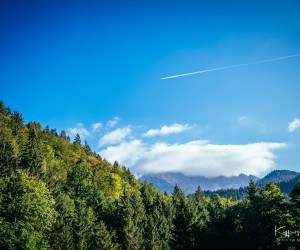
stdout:
[[216,145],[208,141],[149,145],[133,140],[108,147],[99,154],[142,174],[180,171],[187,175],[260,176],[276,166],[274,150],[284,147],[285,143]]

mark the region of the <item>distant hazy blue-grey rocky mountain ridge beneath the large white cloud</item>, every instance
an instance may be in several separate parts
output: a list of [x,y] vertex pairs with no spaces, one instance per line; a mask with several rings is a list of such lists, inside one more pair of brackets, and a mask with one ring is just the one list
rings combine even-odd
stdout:
[[166,172],[159,174],[146,174],[140,178],[140,181],[147,181],[154,184],[159,191],[172,193],[174,186],[177,184],[186,194],[196,191],[198,186],[202,190],[218,189],[237,189],[247,186],[249,180],[258,181],[259,178],[253,175],[240,174],[238,176],[186,176],[180,172]]

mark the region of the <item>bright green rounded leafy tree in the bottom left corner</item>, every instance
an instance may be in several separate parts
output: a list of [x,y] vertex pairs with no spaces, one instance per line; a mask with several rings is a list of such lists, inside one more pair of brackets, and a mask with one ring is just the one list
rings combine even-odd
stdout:
[[45,183],[18,171],[0,179],[0,248],[46,249],[57,213]]

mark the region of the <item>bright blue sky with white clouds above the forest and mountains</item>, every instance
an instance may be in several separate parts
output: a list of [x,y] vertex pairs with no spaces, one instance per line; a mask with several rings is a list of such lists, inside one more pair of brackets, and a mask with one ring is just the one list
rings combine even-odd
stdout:
[[299,1],[2,1],[0,99],[133,172],[300,170]]

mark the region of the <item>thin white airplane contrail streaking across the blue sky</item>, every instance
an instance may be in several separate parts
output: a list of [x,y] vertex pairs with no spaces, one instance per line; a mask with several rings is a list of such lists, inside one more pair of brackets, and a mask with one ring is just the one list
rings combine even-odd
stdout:
[[253,65],[253,64],[259,64],[259,63],[266,63],[266,62],[272,62],[272,61],[277,61],[277,60],[283,60],[283,59],[288,59],[288,58],[297,57],[297,56],[300,56],[300,54],[295,54],[295,55],[290,55],[290,56],[283,56],[283,57],[276,57],[276,58],[267,59],[267,60],[263,60],[263,61],[250,62],[250,63],[242,63],[242,64],[231,65],[231,66],[220,67],[220,68],[214,68],[214,69],[205,69],[205,70],[200,70],[200,71],[195,71],[195,72],[190,72],[190,73],[185,73],[185,74],[179,74],[179,75],[173,75],[173,76],[166,76],[166,77],[162,77],[161,79],[165,80],[165,79],[177,78],[177,77],[182,77],[182,76],[190,76],[190,75],[195,75],[195,74],[202,74],[202,73],[211,72],[211,71],[217,71],[217,70],[222,70],[222,69],[237,68],[237,67],[248,66],[248,65]]

